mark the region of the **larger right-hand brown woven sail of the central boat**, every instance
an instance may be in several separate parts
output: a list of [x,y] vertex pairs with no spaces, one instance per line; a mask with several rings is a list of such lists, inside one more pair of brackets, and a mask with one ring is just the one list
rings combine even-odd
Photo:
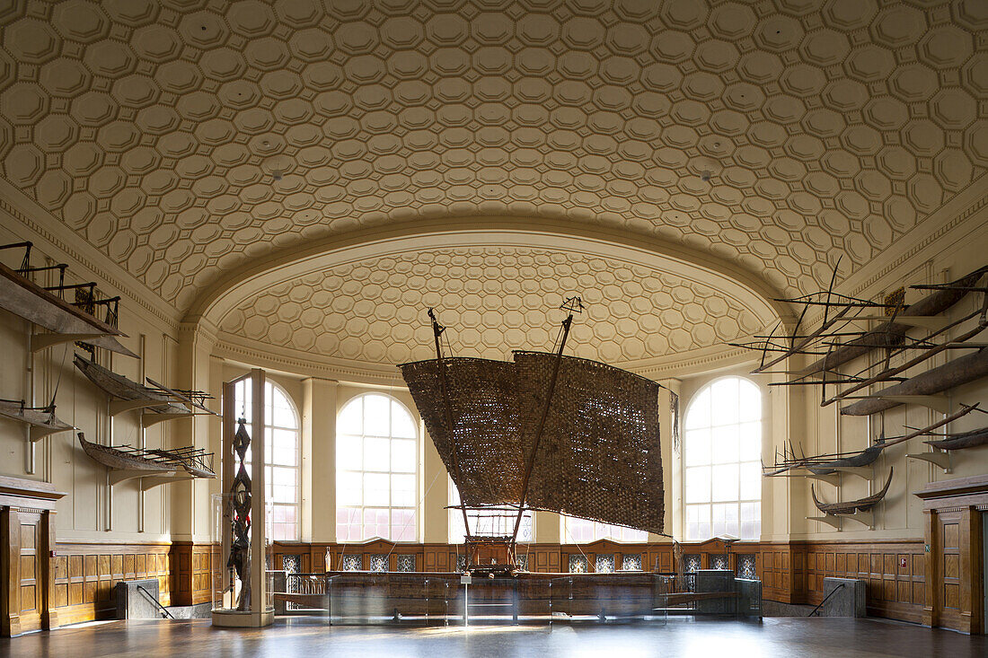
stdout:
[[[541,412],[556,359],[515,353],[528,418]],[[662,533],[659,388],[627,370],[563,357],[535,453],[529,504]],[[534,428],[534,422],[526,425],[526,454],[532,450]]]

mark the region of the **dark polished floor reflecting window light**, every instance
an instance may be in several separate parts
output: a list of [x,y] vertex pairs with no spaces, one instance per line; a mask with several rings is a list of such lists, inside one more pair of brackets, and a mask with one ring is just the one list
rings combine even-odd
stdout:
[[279,617],[264,629],[218,629],[206,619],[108,621],[0,639],[0,655],[133,656],[988,656],[988,638],[876,619],[772,617],[762,623],[670,619],[620,625],[328,626]]

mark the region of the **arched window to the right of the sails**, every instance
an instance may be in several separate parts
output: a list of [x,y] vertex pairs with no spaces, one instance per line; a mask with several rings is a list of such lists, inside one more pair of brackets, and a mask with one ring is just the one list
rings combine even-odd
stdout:
[[762,533],[762,393],[741,377],[703,388],[686,413],[686,538]]

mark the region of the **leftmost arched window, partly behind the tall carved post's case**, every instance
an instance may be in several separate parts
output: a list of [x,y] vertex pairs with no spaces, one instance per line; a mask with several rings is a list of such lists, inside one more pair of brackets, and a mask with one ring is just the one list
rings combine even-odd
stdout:
[[[238,381],[234,386],[234,408],[248,420],[251,408],[249,383]],[[301,516],[301,433],[298,430],[298,413],[285,390],[271,380],[265,380],[264,384],[264,418],[267,425],[264,475],[268,536],[276,541],[297,541]],[[246,427],[253,439],[251,424]],[[249,462],[251,451],[246,456]]]

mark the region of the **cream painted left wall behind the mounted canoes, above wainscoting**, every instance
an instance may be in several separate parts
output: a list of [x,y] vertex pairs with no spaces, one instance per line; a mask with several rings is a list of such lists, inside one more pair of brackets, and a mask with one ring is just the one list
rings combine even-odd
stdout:
[[[100,363],[125,376],[139,380],[150,376],[166,384],[175,384],[177,331],[160,315],[137,303],[130,290],[117,288],[102,268],[93,261],[80,262],[38,234],[18,225],[12,217],[0,216],[0,244],[32,240],[35,248],[31,262],[42,264],[68,263],[66,283],[96,281],[108,295],[123,294],[120,304],[120,329],[127,334],[121,340],[125,347],[142,356],[135,360],[122,355],[98,351]],[[0,261],[18,267],[23,250],[0,252]],[[112,264],[104,264],[107,270]],[[69,281],[70,280],[70,281]],[[38,280],[42,285],[55,285],[50,280]],[[119,281],[119,280],[118,280]],[[55,394],[56,414],[66,423],[85,433],[87,440],[116,445],[137,446],[140,442],[140,412],[128,411],[111,419],[107,395],[91,383],[72,365],[74,344],[64,344],[43,350],[34,356],[28,349],[31,325],[26,320],[0,310],[0,353],[4,368],[0,369],[0,397],[28,399],[42,405]],[[170,423],[175,423],[171,421]],[[184,445],[178,426],[169,422],[148,428],[145,445],[175,447]],[[111,487],[107,469],[86,456],[79,447],[74,432],[65,432],[42,439],[35,447],[34,473],[26,463],[28,444],[24,426],[0,419],[0,473],[52,482],[68,495],[57,505],[56,532],[59,540],[107,539],[118,541],[167,540],[172,532],[170,487],[164,485],[141,493],[136,481]]]

